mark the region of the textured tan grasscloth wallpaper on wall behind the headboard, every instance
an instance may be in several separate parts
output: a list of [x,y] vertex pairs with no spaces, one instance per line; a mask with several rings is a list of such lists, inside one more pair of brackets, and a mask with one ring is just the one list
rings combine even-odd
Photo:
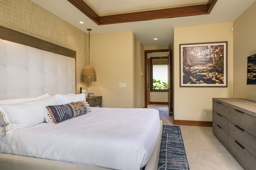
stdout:
[[41,8],[30,0],[0,0],[0,25],[76,51],[76,92],[81,71],[88,64],[88,34]]

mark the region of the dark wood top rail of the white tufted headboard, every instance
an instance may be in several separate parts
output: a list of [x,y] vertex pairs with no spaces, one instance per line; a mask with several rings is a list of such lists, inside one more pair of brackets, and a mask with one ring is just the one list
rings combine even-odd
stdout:
[[21,33],[19,31],[0,26],[0,39],[16,42],[23,45],[28,45],[41,50],[49,51],[56,54],[61,54],[67,57],[72,57],[76,60],[76,51],[69,48],[62,47],[60,45],[41,40],[36,37]]

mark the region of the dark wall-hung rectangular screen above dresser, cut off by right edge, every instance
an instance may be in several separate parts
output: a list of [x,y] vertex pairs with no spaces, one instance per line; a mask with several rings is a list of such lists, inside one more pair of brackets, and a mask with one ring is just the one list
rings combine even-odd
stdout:
[[256,85],[256,54],[247,57],[247,85]]

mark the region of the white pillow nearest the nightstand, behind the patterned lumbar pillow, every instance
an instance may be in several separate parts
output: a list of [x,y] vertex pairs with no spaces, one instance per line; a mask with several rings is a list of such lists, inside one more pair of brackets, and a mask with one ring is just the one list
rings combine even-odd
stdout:
[[58,101],[58,105],[65,105],[65,104],[70,103],[70,102],[86,101],[84,93],[74,94],[74,95],[56,94],[55,97]]

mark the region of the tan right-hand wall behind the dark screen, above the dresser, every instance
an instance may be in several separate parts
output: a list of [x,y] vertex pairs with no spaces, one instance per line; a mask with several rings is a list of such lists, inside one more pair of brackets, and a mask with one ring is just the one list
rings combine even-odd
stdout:
[[247,57],[256,54],[256,2],[234,21],[234,97],[256,101],[256,85],[247,83]]

